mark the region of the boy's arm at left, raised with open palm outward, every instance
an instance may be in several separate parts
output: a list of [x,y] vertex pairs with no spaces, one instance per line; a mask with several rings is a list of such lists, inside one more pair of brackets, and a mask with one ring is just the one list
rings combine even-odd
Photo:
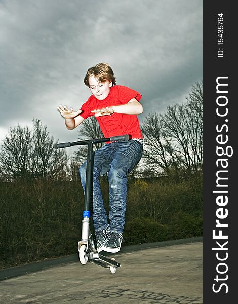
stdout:
[[81,110],[74,112],[72,108],[68,109],[66,105],[62,106],[61,104],[57,107],[57,109],[63,116],[66,128],[68,130],[75,129],[85,120],[82,116],[80,116],[80,113],[82,112]]

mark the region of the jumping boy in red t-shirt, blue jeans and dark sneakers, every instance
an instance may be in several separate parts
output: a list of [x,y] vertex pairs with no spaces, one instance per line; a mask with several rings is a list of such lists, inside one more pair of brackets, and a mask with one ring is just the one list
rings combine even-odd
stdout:
[[[118,252],[125,225],[127,174],[140,161],[143,150],[142,133],[137,115],[143,112],[141,94],[124,86],[115,85],[115,77],[107,63],[88,69],[84,83],[92,95],[81,109],[73,111],[59,105],[65,125],[72,130],[90,116],[95,116],[105,138],[128,134],[129,141],[107,142],[96,150],[93,169],[93,224],[97,251]],[[80,167],[80,178],[85,191],[86,164]],[[99,177],[108,173],[109,219],[105,212]]]

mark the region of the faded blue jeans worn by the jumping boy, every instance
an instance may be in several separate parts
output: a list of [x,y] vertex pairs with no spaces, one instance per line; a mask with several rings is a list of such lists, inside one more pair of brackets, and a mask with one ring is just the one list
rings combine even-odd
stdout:
[[[93,169],[93,224],[95,231],[106,229],[106,215],[99,177],[108,172],[110,231],[122,233],[127,203],[127,174],[139,163],[143,146],[136,140],[115,141],[95,151]],[[80,167],[85,192],[87,161]]]

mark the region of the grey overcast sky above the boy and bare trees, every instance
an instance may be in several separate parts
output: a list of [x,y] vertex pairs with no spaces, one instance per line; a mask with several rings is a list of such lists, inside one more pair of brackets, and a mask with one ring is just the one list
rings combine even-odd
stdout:
[[0,139],[37,118],[75,141],[57,106],[81,107],[99,62],[143,95],[140,122],[185,101],[202,80],[202,0],[0,0],[0,56]]

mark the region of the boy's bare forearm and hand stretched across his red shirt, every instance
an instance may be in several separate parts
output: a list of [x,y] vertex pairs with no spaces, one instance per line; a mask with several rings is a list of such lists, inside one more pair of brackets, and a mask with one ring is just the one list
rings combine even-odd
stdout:
[[94,116],[111,115],[113,113],[138,115],[143,112],[143,106],[136,100],[136,98],[132,98],[128,103],[95,109],[91,112],[95,113]]

